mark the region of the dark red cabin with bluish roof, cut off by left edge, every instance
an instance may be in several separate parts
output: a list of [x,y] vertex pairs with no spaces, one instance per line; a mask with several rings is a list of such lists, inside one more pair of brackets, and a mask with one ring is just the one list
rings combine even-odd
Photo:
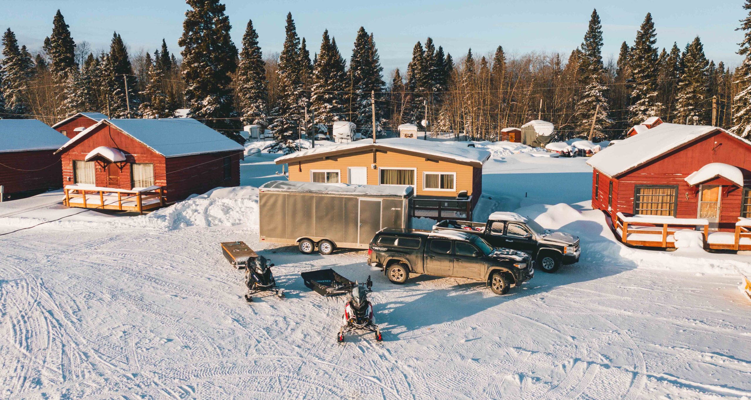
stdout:
[[9,197],[62,187],[60,156],[66,141],[37,119],[0,119],[0,186]]

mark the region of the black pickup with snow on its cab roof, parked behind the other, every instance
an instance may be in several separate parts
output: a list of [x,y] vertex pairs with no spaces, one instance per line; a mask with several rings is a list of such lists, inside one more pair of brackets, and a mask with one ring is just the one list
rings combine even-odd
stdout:
[[[490,229],[488,229],[490,228]],[[565,232],[546,230],[534,220],[515,212],[493,212],[487,223],[441,221],[434,230],[450,230],[481,236],[495,247],[524,251],[544,272],[556,272],[561,264],[579,262],[579,238]]]

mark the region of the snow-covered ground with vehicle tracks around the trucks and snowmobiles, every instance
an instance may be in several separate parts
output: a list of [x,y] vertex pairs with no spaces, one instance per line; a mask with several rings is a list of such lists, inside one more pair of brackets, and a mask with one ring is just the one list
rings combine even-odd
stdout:
[[[751,398],[737,289],[751,256],[626,248],[588,208],[585,158],[478,146],[494,156],[477,218],[518,209],[577,234],[580,263],[506,296],[456,278],[397,286],[363,251],[260,244],[252,187],[136,217],[53,221],[80,212],[59,192],[2,203],[0,233],[53,222],[0,236],[0,398]],[[279,179],[275,157],[247,157],[243,185]],[[276,263],[286,299],[244,302],[229,240]],[[372,276],[382,343],[336,343],[345,299],[300,278],[329,267]]]

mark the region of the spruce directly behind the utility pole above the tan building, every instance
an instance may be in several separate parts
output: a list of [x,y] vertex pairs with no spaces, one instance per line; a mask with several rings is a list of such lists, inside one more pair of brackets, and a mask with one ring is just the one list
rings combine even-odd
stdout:
[[[385,83],[383,81],[380,57],[375,49],[373,35],[368,35],[360,26],[354,39],[352,56],[349,59],[353,93],[351,93],[352,110],[350,118],[360,129],[363,136],[372,135],[372,107],[371,92],[375,92],[376,99],[383,98]],[[375,103],[376,132],[383,128],[383,107]]]

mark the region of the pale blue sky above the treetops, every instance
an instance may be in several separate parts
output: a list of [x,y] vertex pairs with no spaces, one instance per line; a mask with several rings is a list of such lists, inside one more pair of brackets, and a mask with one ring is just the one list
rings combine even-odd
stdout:
[[[149,52],[167,39],[179,53],[177,38],[187,6],[182,0],[0,0],[0,28],[16,32],[31,50],[50,35],[55,11],[65,16],[75,41],[89,41],[94,49],[109,47],[113,31],[131,51]],[[603,56],[617,57],[623,41],[633,43],[636,30],[651,12],[659,47],[674,41],[683,49],[696,35],[707,57],[734,66],[734,52],[742,34],[734,29],[745,13],[743,0],[632,0],[629,2],[565,2],[560,0],[409,2],[258,1],[225,0],[232,38],[240,46],[246,23],[253,20],[265,53],[278,52],[284,41],[285,15],[292,12],[297,33],[309,50],[317,51],[328,29],[343,55],[351,53],[360,26],[374,32],[385,74],[404,69],[415,42],[430,36],[436,45],[459,59],[469,47],[475,54],[492,52],[500,44],[507,53],[562,51],[569,53],[584,37],[593,8],[597,8],[605,38]]]

